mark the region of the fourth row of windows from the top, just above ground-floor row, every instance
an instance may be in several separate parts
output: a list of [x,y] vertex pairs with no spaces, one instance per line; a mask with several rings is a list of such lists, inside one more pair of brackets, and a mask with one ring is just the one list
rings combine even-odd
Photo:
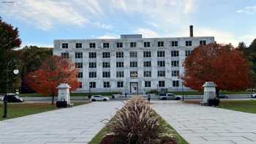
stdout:
[[[144,77],[151,77],[151,71],[144,71],[143,75],[144,75]],[[179,71],[178,70],[173,70],[171,75],[173,77],[178,77],[179,76]],[[157,71],[157,76],[158,77],[165,77],[165,70]],[[83,77],[83,72],[78,72],[77,77],[82,78]],[[89,77],[90,78],[97,77],[97,72],[89,72]],[[110,72],[102,72],[102,77],[110,77]],[[116,77],[124,77],[124,71],[116,72]],[[130,71],[130,77],[138,77],[138,71]]]

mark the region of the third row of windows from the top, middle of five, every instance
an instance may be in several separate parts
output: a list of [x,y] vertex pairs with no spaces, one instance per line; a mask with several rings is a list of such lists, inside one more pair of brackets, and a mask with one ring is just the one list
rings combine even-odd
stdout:
[[[151,67],[151,61],[143,61],[143,66]],[[124,67],[124,61],[117,61],[116,67]],[[129,67],[138,67],[138,61],[130,61]],[[157,67],[165,67],[165,61],[157,61]],[[171,67],[179,67],[178,61],[171,61]],[[75,68],[83,68],[83,63],[75,63]],[[89,68],[97,68],[97,63],[89,62]],[[102,68],[110,68],[110,62],[102,62]]]

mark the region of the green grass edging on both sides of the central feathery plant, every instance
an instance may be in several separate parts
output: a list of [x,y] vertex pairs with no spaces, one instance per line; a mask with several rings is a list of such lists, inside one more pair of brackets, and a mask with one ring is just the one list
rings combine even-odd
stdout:
[[[156,113],[156,115],[158,115]],[[158,115],[159,116],[159,115]],[[173,134],[176,135],[177,137],[177,143],[178,144],[188,144],[186,140],[184,140],[183,137],[181,137],[175,129],[173,129],[172,126],[170,126],[169,124],[167,124],[167,122],[159,116],[159,124],[160,126],[162,126],[162,128],[164,129],[164,132],[172,132]],[[108,126],[108,124],[106,124],[106,126],[101,129],[98,134],[89,142],[89,144],[99,144],[100,141],[102,140],[102,138],[104,137],[105,134],[108,134],[110,132],[110,128]]]

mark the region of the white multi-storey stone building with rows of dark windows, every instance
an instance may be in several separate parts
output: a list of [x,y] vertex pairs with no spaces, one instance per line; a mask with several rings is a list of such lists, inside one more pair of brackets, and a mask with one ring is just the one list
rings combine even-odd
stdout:
[[180,91],[184,59],[198,45],[212,42],[214,37],[193,37],[192,28],[190,37],[56,39],[53,55],[75,62],[80,81],[76,92]]

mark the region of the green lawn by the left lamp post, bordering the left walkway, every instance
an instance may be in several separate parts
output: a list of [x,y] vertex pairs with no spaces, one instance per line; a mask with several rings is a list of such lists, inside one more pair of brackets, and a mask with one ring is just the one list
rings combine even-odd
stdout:
[[[86,102],[77,102],[74,103],[75,105],[83,105]],[[42,113],[49,110],[58,110],[56,105],[51,105],[50,103],[34,103],[34,104],[27,104],[27,103],[10,103],[8,104],[8,118],[2,118],[4,113],[4,106],[0,104],[0,121],[9,119],[9,118],[17,118],[20,116],[25,115],[32,115],[35,113]]]

